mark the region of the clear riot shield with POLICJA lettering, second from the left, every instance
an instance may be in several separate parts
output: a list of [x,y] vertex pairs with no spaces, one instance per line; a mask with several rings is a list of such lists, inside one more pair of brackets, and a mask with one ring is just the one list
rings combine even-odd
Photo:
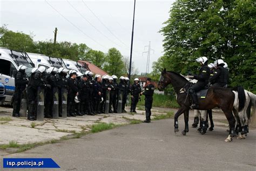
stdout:
[[44,121],[44,89],[37,88],[37,121]]

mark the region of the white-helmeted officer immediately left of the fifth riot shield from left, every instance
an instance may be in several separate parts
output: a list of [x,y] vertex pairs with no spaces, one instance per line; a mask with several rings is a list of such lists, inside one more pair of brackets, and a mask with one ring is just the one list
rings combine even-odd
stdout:
[[95,113],[100,114],[100,101],[102,101],[102,77],[99,74],[95,76],[95,84],[93,85],[93,109]]

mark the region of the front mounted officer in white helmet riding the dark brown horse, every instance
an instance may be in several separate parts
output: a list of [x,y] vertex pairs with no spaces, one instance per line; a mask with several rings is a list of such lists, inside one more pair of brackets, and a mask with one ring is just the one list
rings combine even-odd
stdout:
[[199,102],[197,98],[196,92],[203,90],[205,86],[208,84],[208,80],[210,77],[210,68],[207,66],[208,59],[206,57],[197,58],[196,61],[200,63],[201,67],[199,70],[199,74],[194,74],[193,79],[198,80],[196,84],[192,85],[188,92],[191,94],[193,99],[193,104],[191,108],[195,109],[199,107]]

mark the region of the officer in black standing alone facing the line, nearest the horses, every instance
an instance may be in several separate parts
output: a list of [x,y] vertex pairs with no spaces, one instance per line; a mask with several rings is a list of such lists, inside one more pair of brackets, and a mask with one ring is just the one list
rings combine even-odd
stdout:
[[151,108],[153,102],[153,94],[154,94],[154,85],[151,83],[151,78],[147,78],[146,85],[144,86],[144,91],[140,94],[145,95],[145,111],[146,111],[146,120],[143,122],[150,123],[151,119]]

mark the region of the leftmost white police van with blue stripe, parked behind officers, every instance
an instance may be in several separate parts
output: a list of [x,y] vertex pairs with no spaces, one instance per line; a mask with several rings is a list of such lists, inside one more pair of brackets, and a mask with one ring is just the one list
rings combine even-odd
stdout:
[[2,86],[0,85],[0,93],[2,93],[1,95],[5,103],[12,102],[15,90],[14,76],[19,65],[28,67],[26,69],[28,77],[35,66],[26,52],[0,47],[0,83],[2,83]]

